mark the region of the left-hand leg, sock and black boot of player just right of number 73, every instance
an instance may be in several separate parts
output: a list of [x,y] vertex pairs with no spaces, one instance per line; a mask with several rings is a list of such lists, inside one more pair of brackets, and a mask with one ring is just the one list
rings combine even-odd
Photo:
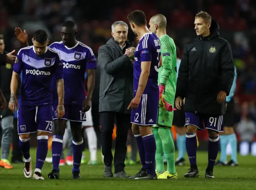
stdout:
[[54,136],[52,139],[52,172],[48,174],[50,179],[59,179],[60,175],[60,155],[63,150],[63,136],[65,133],[67,120],[55,119],[54,122]]

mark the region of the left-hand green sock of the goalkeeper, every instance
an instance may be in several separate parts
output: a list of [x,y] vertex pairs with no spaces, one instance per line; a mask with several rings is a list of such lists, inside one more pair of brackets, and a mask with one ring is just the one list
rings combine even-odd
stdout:
[[162,139],[158,134],[158,128],[153,127],[152,132],[156,140],[156,171],[159,173],[164,172],[164,150],[162,145]]

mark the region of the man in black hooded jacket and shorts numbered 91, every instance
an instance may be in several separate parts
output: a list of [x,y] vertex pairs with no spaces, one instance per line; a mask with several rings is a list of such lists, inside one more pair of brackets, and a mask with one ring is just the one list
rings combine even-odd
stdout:
[[196,165],[196,131],[208,130],[208,166],[205,177],[212,172],[219,150],[218,132],[223,131],[225,101],[234,79],[234,61],[230,44],[220,38],[220,28],[206,12],[195,17],[197,38],[184,47],[178,72],[176,107],[185,99],[186,150],[190,170],[186,178],[199,176]]

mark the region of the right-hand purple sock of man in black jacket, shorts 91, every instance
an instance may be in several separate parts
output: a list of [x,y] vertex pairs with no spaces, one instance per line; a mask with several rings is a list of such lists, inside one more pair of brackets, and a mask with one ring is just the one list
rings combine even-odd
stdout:
[[219,152],[219,136],[209,137],[208,143],[208,166],[206,172],[213,172],[213,167]]

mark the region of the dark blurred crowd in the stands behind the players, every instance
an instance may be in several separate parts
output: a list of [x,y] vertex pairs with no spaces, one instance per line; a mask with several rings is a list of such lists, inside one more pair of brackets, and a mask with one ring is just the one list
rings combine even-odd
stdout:
[[[29,38],[35,30],[44,29],[50,34],[50,42],[55,42],[61,40],[62,22],[74,20],[78,25],[77,39],[90,46],[97,55],[99,46],[111,38],[111,24],[117,20],[128,22],[128,12],[136,9],[144,11],[147,18],[158,13],[166,16],[168,34],[179,48],[180,58],[184,44],[196,36],[193,24],[196,12],[204,10],[218,22],[221,36],[232,46],[238,71],[234,97],[236,132],[242,139],[255,140],[255,0],[112,0],[100,3],[85,0],[0,0],[0,33],[5,36],[6,50],[19,50],[22,46],[15,38],[15,27],[26,29]],[[129,30],[128,39],[136,43],[135,37]],[[250,135],[245,135],[247,133]]]

